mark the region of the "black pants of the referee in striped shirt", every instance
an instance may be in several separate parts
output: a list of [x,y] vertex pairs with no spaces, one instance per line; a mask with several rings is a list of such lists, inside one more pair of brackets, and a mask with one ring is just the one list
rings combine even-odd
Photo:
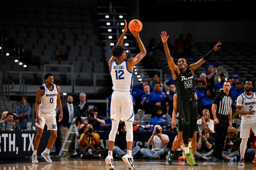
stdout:
[[214,125],[216,137],[212,157],[222,159],[222,151],[224,148],[224,142],[228,132],[229,119],[228,115],[220,114],[217,114],[217,118],[219,119],[219,123]]

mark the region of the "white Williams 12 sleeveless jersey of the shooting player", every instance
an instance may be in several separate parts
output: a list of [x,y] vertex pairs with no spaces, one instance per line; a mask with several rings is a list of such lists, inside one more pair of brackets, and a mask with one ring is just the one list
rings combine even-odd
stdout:
[[128,70],[126,61],[120,63],[120,65],[113,62],[110,68],[110,75],[113,90],[132,92],[133,73]]

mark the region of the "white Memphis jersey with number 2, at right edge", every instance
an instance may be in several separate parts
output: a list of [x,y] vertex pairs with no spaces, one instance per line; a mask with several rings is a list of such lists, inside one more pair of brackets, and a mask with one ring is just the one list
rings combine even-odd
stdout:
[[[236,100],[236,106],[242,106],[243,111],[256,111],[256,94],[252,92],[252,96],[246,96],[245,93],[238,96]],[[253,117],[256,115],[242,115],[242,117]]]

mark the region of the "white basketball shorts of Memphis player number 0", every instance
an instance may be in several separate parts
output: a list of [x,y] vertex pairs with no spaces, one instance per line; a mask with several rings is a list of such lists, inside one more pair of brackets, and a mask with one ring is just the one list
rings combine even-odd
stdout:
[[39,110],[38,116],[42,121],[40,121],[40,125],[36,123],[36,127],[44,129],[44,125],[46,124],[47,130],[57,130],[55,110],[51,111],[50,113],[41,113]]

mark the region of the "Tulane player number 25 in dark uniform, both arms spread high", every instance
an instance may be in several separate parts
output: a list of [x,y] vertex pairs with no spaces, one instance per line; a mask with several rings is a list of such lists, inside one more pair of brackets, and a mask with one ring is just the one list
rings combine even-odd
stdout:
[[187,159],[189,165],[198,166],[198,164],[193,159],[193,155],[189,149],[191,147],[191,141],[197,126],[196,122],[198,119],[197,103],[194,97],[195,83],[193,75],[194,71],[204,62],[206,62],[214,51],[220,49],[218,46],[221,45],[221,43],[218,42],[208,54],[204,55],[202,59],[188,67],[188,62],[185,58],[180,58],[178,60],[178,64],[175,65],[167,46],[167,40],[169,36],[167,36],[166,32],[164,31],[160,36],[164,43],[164,52],[168,61],[168,65],[172,71],[172,78],[177,88],[178,111],[182,120],[182,138],[185,145],[183,156]]

